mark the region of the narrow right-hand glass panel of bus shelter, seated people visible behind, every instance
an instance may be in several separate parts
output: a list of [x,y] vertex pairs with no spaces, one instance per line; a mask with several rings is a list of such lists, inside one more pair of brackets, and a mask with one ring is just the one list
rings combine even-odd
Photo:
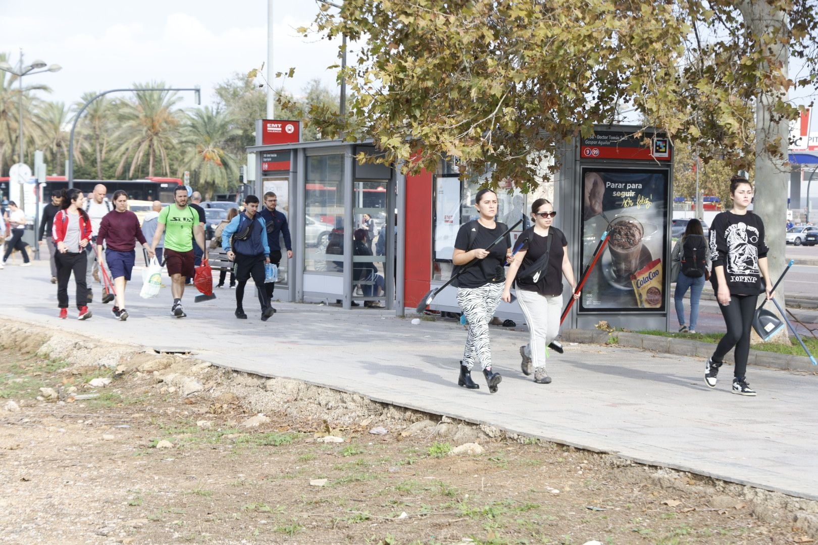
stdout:
[[386,300],[388,192],[386,180],[353,185],[353,301]]

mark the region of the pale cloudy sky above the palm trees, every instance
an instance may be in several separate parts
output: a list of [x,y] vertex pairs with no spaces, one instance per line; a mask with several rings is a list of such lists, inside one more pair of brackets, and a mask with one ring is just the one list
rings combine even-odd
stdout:
[[[315,0],[274,0],[273,69],[295,67],[285,88],[299,95],[313,78],[337,87],[338,42],[303,38],[318,12]],[[161,81],[167,87],[202,89],[212,105],[213,87],[267,60],[267,0],[0,0],[0,51],[16,65],[35,59],[58,64],[56,73],[33,74],[24,85],[52,88],[43,98],[73,104],[83,92]],[[279,83],[276,83],[278,87]],[[182,107],[196,103],[180,92]]]

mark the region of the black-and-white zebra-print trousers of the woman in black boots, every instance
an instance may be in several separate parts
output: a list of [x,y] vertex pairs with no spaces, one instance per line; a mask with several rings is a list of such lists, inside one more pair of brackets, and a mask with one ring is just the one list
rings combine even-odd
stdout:
[[463,364],[471,370],[474,361],[481,369],[492,367],[492,342],[488,338],[488,324],[500,305],[503,284],[485,284],[479,288],[457,288],[457,304],[469,320],[469,335],[465,339]]

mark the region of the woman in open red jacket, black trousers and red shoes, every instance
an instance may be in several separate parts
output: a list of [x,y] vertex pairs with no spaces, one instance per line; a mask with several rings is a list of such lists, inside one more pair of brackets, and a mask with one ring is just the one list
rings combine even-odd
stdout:
[[57,252],[56,299],[61,319],[68,318],[68,281],[71,273],[74,273],[74,284],[77,286],[77,318],[91,318],[91,310],[88,310],[88,284],[85,284],[88,267],[85,248],[91,243],[92,228],[91,218],[83,209],[84,201],[82,191],[76,188],[63,190],[61,210],[54,216],[52,238]]

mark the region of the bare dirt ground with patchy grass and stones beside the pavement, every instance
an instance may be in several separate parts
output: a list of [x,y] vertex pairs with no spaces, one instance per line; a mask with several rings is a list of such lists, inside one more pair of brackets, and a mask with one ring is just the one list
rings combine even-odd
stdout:
[[[782,494],[193,357],[131,354],[115,369],[81,366],[44,333],[21,338],[0,331],[0,543],[818,536],[816,503]],[[478,446],[452,455],[469,443]]]

